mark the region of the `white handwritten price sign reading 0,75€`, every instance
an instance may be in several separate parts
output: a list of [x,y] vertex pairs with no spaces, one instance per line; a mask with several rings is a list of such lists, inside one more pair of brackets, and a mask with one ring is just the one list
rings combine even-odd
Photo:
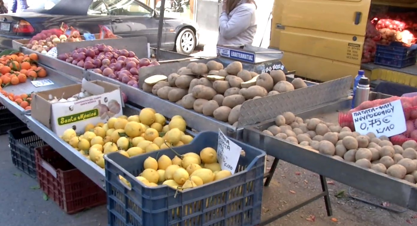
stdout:
[[373,132],[377,137],[392,137],[407,129],[401,100],[353,112],[352,116],[356,132],[362,135]]

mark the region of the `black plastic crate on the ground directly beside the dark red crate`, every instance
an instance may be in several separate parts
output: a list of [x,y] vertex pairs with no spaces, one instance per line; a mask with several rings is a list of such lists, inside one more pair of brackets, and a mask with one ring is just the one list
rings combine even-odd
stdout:
[[29,176],[36,178],[34,149],[46,143],[28,127],[10,129],[8,134],[13,165]]

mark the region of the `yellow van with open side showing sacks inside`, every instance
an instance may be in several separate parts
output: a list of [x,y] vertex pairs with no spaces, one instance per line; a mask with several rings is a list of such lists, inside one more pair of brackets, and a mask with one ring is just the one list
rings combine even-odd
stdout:
[[270,47],[296,75],[326,82],[364,70],[371,80],[417,87],[417,65],[401,69],[361,64],[369,16],[392,9],[417,11],[417,0],[275,0]]

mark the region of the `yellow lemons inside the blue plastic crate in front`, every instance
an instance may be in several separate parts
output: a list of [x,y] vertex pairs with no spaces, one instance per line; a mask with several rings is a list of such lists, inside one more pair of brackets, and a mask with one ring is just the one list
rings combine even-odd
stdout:
[[[149,187],[168,185],[173,189],[187,189],[231,176],[231,172],[221,170],[217,161],[217,153],[211,147],[206,147],[200,154],[188,152],[170,159],[162,155],[158,160],[148,157],[143,162],[143,171],[136,176],[138,181]],[[130,182],[122,176],[121,181],[127,186]]]

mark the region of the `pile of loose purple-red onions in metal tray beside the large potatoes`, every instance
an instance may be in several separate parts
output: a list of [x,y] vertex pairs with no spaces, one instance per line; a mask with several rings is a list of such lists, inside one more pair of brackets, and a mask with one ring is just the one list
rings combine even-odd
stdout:
[[118,50],[104,44],[78,48],[73,52],[58,55],[58,59],[85,69],[94,69],[96,73],[118,79],[133,87],[138,87],[138,71],[141,67],[159,65],[156,60],[139,59],[132,51]]

